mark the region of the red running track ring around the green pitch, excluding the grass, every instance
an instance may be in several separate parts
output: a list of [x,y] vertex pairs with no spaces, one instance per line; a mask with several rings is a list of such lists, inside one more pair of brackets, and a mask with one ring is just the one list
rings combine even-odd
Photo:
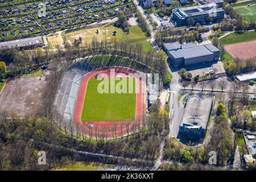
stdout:
[[[129,74],[137,73],[127,68],[114,68],[115,69],[115,77],[117,75],[128,76]],[[97,71],[89,72],[82,79],[80,83],[79,95],[77,96],[75,111],[73,115],[73,121],[78,124],[81,130],[84,131],[86,135],[90,137],[103,137],[104,138],[112,138],[120,137],[121,135],[126,135],[130,133],[132,130],[138,129],[141,127],[143,123],[143,110],[145,109],[143,94],[145,86],[144,81],[138,77],[138,75],[134,75],[134,78],[137,80],[137,94],[136,94],[136,109],[135,109],[135,119],[134,121],[97,121],[97,122],[82,122],[81,114],[82,108],[84,106],[86,88],[88,85],[88,81],[90,78],[96,78],[96,75],[100,73],[105,73],[109,77],[113,77],[110,75],[110,68],[98,69]],[[143,90],[143,92],[142,92]],[[93,125],[93,127],[88,127],[88,125]]]

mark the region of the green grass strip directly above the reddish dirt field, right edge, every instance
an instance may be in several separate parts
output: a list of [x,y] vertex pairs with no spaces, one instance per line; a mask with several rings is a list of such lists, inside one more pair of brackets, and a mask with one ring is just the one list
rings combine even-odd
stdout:
[[256,31],[232,32],[220,39],[222,45],[250,42],[256,40]]

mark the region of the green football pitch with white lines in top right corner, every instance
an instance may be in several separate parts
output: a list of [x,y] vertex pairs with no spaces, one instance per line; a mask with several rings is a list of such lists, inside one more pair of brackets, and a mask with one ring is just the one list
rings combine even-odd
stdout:
[[256,21],[256,5],[238,7],[235,10],[240,13],[247,22]]

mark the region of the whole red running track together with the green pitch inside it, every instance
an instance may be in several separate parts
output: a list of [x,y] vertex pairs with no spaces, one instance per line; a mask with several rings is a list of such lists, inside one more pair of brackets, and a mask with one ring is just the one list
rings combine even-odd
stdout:
[[129,68],[97,69],[81,80],[73,122],[90,137],[125,136],[142,126],[145,101],[141,74]]

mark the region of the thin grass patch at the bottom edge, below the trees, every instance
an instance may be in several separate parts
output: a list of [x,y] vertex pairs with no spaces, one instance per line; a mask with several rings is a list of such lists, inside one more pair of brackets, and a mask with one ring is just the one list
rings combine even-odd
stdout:
[[67,166],[55,167],[52,171],[96,171],[98,167],[113,168],[112,165],[108,164],[96,164],[96,163],[75,163]]

